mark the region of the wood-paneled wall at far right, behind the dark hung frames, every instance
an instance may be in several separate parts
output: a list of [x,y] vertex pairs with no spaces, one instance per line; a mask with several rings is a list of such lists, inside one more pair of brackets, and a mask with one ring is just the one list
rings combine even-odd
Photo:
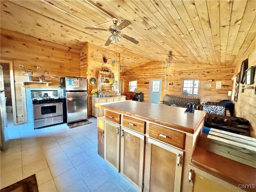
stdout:
[[[256,66],[256,38],[251,44],[250,48],[246,51],[244,56],[236,62],[235,74],[240,72],[242,61],[248,58],[248,68],[250,66]],[[236,81],[234,81],[236,84]],[[254,72],[254,84],[252,86],[246,86],[240,84],[239,87],[245,86],[244,92],[238,92],[238,100],[235,104],[235,116],[247,119],[250,122],[250,134],[256,138],[256,71]]]

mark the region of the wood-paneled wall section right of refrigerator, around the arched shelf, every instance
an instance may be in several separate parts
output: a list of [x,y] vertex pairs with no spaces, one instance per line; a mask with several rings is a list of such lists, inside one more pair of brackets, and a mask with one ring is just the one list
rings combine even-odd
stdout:
[[[103,62],[103,56],[108,58],[107,63]],[[91,97],[94,94],[91,93],[92,89],[98,88],[98,71],[101,71],[103,68],[108,68],[112,73],[114,73],[114,78],[119,83],[119,63],[120,63],[120,54],[114,51],[114,44],[110,44],[108,49],[96,46],[89,42],[81,49],[80,55],[80,65],[81,65],[81,74],[82,66],[85,66],[87,63],[86,72],[88,80],[88,116],[92,114],[92,102]],[[112,66],[112,61],[115,61],[114,66]],[[90,78],[94,77],[96,79],[95,84],[90,83]],[[117,93],[118,89],[116,89]]]

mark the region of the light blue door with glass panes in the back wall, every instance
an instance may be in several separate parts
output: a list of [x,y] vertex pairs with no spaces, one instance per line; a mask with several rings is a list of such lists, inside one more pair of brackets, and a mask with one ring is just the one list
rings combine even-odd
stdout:
[[150,103],[158,104],[161,100],[162,92],[162,79],[151,79],[150,80]]

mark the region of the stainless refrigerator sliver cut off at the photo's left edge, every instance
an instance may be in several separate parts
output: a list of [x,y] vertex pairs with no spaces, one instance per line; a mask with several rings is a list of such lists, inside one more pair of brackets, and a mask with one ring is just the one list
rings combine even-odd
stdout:
[[6,114],[6,99],[4,96],[4,76],[2,66],[0,66],[0,148],[6,150],[8,148],[8,130],[7,114]]

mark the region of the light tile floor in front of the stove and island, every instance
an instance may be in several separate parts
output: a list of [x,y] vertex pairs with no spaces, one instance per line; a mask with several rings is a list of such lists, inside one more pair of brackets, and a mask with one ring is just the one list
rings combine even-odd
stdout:
[[0,188],[36,174],[40,192],[137,192],[97,153],[97,119],[68,128],[13,126],[8,114],[9,148],[0,153]]

